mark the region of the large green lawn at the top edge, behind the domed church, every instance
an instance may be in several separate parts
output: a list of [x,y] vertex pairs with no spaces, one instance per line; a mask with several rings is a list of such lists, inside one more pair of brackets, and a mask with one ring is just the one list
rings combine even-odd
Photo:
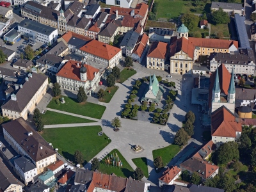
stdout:
[[[198,6],[194,6],[193,1],[183,0],[156,0],[159,3],[157,8],[156,19],[159,18],[177,18],[182,13],[202,13],[209,12],[209,3],[200,3]],[[211,1],[209,1],[211,2]]]

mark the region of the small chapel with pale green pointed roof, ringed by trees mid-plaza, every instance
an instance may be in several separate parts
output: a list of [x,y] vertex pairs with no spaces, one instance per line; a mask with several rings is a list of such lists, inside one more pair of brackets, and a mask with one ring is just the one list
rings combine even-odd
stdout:
[[143,93],[141,102],[147,102],[148,104],[154,103],[158,105],[163,98],[164,89],[163,86],[159,85],[156,75],[149,77],[149,84]]

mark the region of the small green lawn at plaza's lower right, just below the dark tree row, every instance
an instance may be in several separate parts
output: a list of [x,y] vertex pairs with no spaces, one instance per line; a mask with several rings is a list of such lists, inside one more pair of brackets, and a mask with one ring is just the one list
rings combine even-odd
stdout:
[[153,150],[153,158],[156,159],[156,157],[161,156],[163,164],[166,166],[179,151],[179,145],[169,145],[164,148]]

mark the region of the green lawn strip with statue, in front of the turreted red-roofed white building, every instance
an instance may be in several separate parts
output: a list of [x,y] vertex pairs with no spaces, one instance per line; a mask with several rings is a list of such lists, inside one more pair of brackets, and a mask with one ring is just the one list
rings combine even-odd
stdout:
[[[62,97],[62,96],[61,96]],[[78,115],[90,116],[92,118],[100,119],[106,107],[93,104],[92,102],[78,103],[76,99],[64,97],[65,104],[56,104],[56,97],[53,97],[47,108],[75,113]]]

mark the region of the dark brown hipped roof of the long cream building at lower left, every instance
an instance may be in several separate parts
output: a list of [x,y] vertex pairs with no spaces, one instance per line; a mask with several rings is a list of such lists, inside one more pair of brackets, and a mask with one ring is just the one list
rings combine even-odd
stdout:
[[[2,124],[2,126],[35,162],[56,154],[54,149],[24,118],[17,118],[11,122]],[[32,132],[32,135],[28,136],[28,132]]]

